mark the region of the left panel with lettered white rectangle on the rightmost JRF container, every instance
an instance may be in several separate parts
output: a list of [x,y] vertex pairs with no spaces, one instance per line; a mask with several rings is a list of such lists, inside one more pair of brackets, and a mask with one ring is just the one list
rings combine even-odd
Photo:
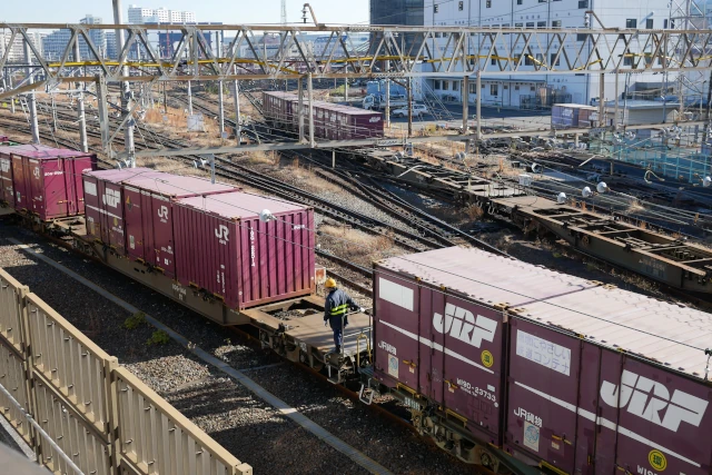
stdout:
[[581,340],[511,321],[507,445],[574,473]]

